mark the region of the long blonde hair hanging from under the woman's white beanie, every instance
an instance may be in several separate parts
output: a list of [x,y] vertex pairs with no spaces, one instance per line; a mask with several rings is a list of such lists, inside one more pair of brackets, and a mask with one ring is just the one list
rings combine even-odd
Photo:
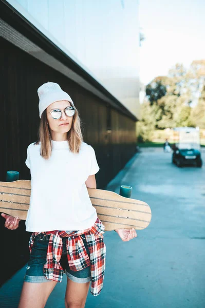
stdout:
[[[45,159],[49,159],[52,151],[52,141],[50,129],[47,124],[46,110],[42,113],[38,135],[39,140],[36,141],[35,144],[41,142],[41,156]],[[81,119],[77,109],[73,115],[72,126],[68,131],[67,138],[70,151],[72,153],[79,153],[81,143],[83,142],[83,136],[81,131]]]

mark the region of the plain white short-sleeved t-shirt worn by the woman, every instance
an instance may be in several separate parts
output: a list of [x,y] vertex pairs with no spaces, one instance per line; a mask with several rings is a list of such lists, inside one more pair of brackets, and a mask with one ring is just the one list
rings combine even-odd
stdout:
[[67,141],[52,141],[51,156],[40,155],[41,143],[31,143],[26,165],[31,172],[31,197],[26,231],[81,230],[91,227],[97,213],[85,181],[99,171],[94,149],[83,142],[79,153]]

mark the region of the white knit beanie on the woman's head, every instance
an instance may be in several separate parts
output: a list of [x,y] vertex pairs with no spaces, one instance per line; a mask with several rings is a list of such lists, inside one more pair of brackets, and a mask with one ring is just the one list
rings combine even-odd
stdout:
[[74,103],[68,93],[64,92],[59,84],[47,82],[38,89],[39,95],[39,116],[41,118],[44,110],[52,103],[57,101],[69,101],[73,106]]

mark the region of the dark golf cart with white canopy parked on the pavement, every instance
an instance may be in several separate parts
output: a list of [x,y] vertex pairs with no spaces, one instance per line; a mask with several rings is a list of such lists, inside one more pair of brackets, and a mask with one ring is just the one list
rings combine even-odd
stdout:
[[178,141],[173,148],[172,162],[178,167],[193,164],[202,166],[199,129],[193,127],[174,128]]

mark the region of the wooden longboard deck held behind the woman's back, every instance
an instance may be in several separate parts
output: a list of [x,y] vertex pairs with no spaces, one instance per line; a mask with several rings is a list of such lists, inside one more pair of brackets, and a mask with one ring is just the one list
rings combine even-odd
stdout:
[[[113,191],[87,190],[106,231],[120,228],[142,230],[150,224],[152,212],[145,202],[122,197]],[[0,182],[0,211],[26,220],[30,194],[31,181]]]

